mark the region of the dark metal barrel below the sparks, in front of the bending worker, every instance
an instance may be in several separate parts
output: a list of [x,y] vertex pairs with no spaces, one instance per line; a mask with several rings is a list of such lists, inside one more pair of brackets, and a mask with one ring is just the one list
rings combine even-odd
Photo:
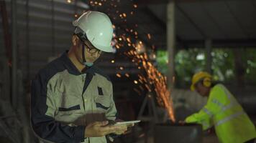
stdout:
[[155,143],[201,143],[203,131],[200,124],[156,124]]

